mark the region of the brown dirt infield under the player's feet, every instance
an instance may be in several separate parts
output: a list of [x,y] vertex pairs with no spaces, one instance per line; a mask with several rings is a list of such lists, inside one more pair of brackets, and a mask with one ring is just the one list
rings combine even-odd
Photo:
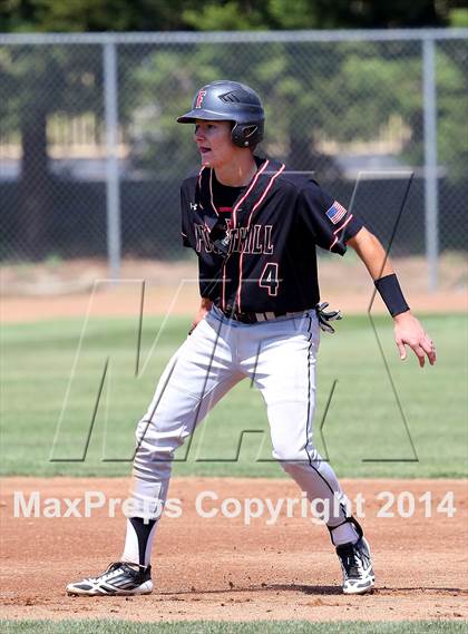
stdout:
[[[1,587],[6,618],[116,617],[137,621],[177,620],[418,620],[468,617],[467,604],[467,486],[461,480],[344,480],[348,496],[364,496],[363,523],[374,553],[377,589],[372,595],[347,597],[340,591],[340,569],[326,530],[311,516],[280,515],[269,524],[267,513],[246,524],[244,511],[227,518],[225,498],[273,500],[299,498],[289,480],[178,478],[169,497],[178,498],[181,517],[165,517],[155,547],[155,592],[145,597],[69,597],[68,581],[107,567],[118,558],[125,519],[109,518],[110,497],[125,498],[125,479],[7,478],[1,488]],[[84,498],[85,491],[103,491],[105,508],[90,517],[13,517],[13,492],[28,500],[39,491],[39,509],[46,498]],[[218,509],[204,518],[195,510],[204,491],[203,510]],[[404,504],[384,510],[391,491]],[[401,491],[409,491],[398,496]],[[426,501],[418,501],[420,496]],[[437,505],[454,491],[456,513],[447,517]],[[18,494],[17,494],[18,496]],[[408,499],[416,500],[410,514]],[[19,498],[18,498],[19,499]],[[97,497],[94,498],[95,501]],[[406,501],[404,501],[406,500]],[[85,508],[76,507],[81,515]],[[118,508],[118,507],[117,507]],[[17,510],[20,510],[19,506]],[[400,513],[401,511],[401,513]],[[71,513],[71,511],[70,511]],[[393,513],[394,517],[379,517]],[[431,517],[426,517],[426,515]],[[17,514],[18,515],[18,514]],[[42,515],[42,514],[41,514]],[[72,513],[71,513],[72,515]],[[402,517],[401,515],[410,515]]]

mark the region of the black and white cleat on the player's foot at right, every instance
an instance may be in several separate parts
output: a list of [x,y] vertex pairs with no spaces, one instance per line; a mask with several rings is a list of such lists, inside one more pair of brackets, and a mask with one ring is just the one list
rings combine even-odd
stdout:
[[355,544],[342,544],[337,555],[343,570],[343,593],[364,594],[372,589],[376,576],[372,569],[370,547],[364,537]]

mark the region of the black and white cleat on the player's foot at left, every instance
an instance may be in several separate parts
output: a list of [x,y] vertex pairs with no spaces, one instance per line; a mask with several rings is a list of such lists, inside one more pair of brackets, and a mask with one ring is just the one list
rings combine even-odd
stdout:
[[153,591],[152,566],[116,562],[97,577],[68,584],[67,593],[87,596],[128,596]]

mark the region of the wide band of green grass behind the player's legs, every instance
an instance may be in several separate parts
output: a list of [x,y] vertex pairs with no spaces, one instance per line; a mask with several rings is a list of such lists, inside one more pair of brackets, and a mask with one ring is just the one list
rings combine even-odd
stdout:
[[[464,315],[431,315],[422,321],[439,355],[435,368],[423,370],[412,353],[404,363],[399,361],[391,320],[379,318],[376,322],[417,462],[382,461],[411,460],[413,453],[368,318],[348,316],[339,324],[338,334],[322,336],[315,442],[340,477],[466,476],[467,320]],[[149,354],[162,321],[145,319],[136,379],[137,320],[89,322],[52,452],[55,458],[75,461],[50,461],[50,456],[82,322],[2,325],[1,472],[128,475],[135,422],[144,414],[155,381],[184,340],[188,323],[188,319],[170,319]],[[101,406],[86,459],[80,461],[107,357],[110,361]],[[334,380],[338,383],[324,426],[325,451],[320,421]],[[236,460],[243,430],[252,432],[244,433]],[[271,459],[262,398],[247,381],[217,404],[192,443],[179,450],[174,472],[282,476]]]

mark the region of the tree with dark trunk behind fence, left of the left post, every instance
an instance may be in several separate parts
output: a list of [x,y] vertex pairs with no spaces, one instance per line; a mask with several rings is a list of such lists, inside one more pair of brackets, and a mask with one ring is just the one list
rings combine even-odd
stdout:
[[50,172],[47,123],[55,114],[101,114],[101,48],[84,46],[0,47],[0,119],[18,131],[21,172],[18,231],[26,253],[48,250],[48,225],[56,177]]

